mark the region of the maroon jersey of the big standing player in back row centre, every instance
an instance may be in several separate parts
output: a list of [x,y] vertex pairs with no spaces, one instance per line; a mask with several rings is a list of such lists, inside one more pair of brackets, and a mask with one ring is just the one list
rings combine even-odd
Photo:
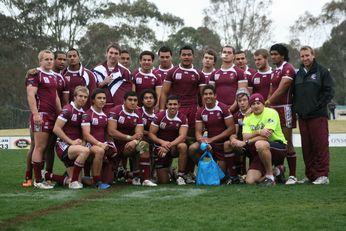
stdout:
[[174,67],[167,74],[165,82],[170,82],[171,93],[180,98],[181,107],[197,106],[199,87],[206,85],[204,74],[195,68]]

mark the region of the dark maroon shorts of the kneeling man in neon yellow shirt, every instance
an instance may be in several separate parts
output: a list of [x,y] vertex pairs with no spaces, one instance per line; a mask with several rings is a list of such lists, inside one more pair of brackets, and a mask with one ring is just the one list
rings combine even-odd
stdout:
[[[281,142],[269,142],[270,144],[270,152],[272,154],[272,165],[281,165],[284,163],[285,157],[287,155],[287,145]],[[249,152],[251,153],[253,159],[249,166],[249,169],[255,169],[265,174],[265,168],[262,164],[262,161],[256,151],[256,147],[254,144],[249,145]]]

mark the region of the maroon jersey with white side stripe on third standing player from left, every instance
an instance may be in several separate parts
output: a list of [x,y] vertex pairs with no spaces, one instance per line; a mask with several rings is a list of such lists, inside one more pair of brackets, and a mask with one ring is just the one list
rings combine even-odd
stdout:
[[[80,65],[79,70],[77,71],[71,71],[69,68],[66,68],[66,70],[63,72],[63,76],[67,80],[67,86],[68,90],[70,92],[69,101],[73,101],[73,94],[74,89],[77,86],[85,86],[89,89],[89,95],[93,92],[93,90],[96,88],[96,82],[95,82],[95,75],[90,70],[83,67],[83,65]],[[89,108],[91,106],[90,97],[83,107],[84,109]]]

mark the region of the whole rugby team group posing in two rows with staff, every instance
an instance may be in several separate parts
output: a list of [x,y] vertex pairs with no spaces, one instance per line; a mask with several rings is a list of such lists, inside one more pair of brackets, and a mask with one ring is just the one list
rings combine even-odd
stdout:
[[[194,184],[205,152],[223,172],[221,184],[329,184],[334,86],[310,46],[300,48],[300,67],[282,44],[252,57],[232,46],[206,49],[201,70],[189,45],[139,57],[117,44],[104,50],[105,61],[90,70],[77,49],[42,50],[39,67],[27,71],[31,146],[23,187]],[[130,71],[130,62],[138,69]],[[300,179],[292,143],[298,125]],[[65,172],[53,169],[55,157]]]

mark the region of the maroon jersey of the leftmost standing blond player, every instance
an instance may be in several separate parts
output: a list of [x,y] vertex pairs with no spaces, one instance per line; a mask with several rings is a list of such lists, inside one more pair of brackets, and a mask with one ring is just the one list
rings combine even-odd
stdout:
[[37,68],[38,72],[28,75],[25,79],[25,86],[37,87],[36,105],[38,112],[46,112],[56,116],[57,82],[53,71],[43,71]]

